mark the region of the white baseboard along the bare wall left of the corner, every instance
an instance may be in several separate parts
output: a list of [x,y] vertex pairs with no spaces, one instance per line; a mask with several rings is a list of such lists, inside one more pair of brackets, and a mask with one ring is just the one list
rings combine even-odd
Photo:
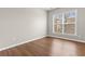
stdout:
[[19,43],[16,43],[16,44],[12,44],[12,46],[9,46],[9,47],[5,47],[5,48],[1,48],[0,51],[8,50],[8,49],[11,49],[11,48],[24,44],[24,43],[28,43],[28,42],[31,42],[31,41],[34,41],[34,40],[38,40],[38,39],[41,39],[41,38],[44,38],[44,37],[46,37],[46,36],[34,38],[34,39],[27,40],[27,41],[23,41],[23,42],[19,42]]

